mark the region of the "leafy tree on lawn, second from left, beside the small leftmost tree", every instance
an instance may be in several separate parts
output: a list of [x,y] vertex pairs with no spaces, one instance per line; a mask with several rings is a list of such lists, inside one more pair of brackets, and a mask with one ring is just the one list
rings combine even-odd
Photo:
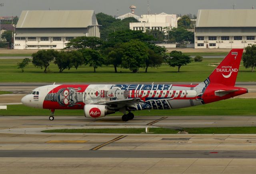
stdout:
[[50,62],[56,57],[58,51],[54,49],[47,49],[47,50],[39,50],[36,53],[32,54],[32,63],[35,67],[40,67],[43,69],[44,73],[46,73],[47,67],[49,67]]

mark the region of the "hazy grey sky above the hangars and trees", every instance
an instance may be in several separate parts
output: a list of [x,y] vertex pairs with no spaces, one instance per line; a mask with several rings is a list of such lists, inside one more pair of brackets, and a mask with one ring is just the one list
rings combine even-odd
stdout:
[[[94,10],[112,16],[131,12],[130,6],[137,8],[135,14],[148,13],[148,0],[0,0],[0,16],[20,16],[22,10]],[[256,8],[256,0],[149,0],[151,14],[196,14],[199,9]],[[118,9],[118,10],[117,10]],[[118,12],[117,12],[118,11]]]

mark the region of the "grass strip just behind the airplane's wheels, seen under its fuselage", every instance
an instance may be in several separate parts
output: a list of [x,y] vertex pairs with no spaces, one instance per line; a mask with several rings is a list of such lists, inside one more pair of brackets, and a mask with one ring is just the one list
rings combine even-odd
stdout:
[[[162,115],[162,116],[187,116],[187,115],[256,115],[256,99],[227,99],[206,105],[173,109],[173,110],[148,110],[135,111],[135,116]],[[34,109],[24,105],[8,105],[7,110],[0,110],[0,115],[50,115],[48,109]],[[56,110],[55,115],[80,115],[84,117],[83,110]],[[117,112],[113,115],[122,115]],[[111,117],[111,115],[107,116]]]

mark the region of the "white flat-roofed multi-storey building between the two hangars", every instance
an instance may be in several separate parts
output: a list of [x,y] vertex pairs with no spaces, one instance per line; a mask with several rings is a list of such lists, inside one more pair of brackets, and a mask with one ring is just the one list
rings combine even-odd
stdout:
[[130,30],[160,30],[166,31],[166,28],[177,28],[178,20],[176,14],[143,14],[140,22],[131,22]]

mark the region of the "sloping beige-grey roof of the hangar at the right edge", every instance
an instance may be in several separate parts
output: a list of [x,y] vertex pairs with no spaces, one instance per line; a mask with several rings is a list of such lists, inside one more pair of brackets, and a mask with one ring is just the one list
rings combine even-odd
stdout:
[[198,10],[196,27],[256,27],[256,10]]

